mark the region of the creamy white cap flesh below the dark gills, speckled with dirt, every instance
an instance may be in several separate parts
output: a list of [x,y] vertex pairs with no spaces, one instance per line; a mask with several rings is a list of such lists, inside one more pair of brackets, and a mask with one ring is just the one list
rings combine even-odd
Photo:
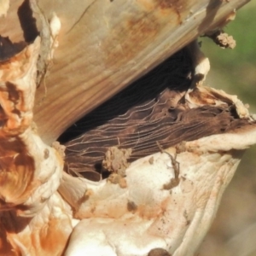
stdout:
[[[92,183],[83,178],[75,185],[74,177],[65,175],[59,191],[67,201],[78,201],[79,193],[65,195],[64,186],[83,188],[80,195],[90,191],[89,198],[76,206],[76,216],[83,219],[74,228],[65,255],[143,256],[155,247],[175,256],[193,255],[240,162],[242,152],[228,145],[243,149],[255,143],[255,128],[247,136],[251,139],[243,145],[234,144],[236,134],[185,143],[184,152],[177,154],[179,183],[172,189],[164,187],[175,176],[170,157],[175,148],[152,155],[153,164],[152,156],[133,162],[126,170],[125,189],[107,180]],[[225,143],[229,151],[214,152],[224,149]],[[215,150],[209,152],[212,147]],[[129,204],[134,207],[130,211]]]

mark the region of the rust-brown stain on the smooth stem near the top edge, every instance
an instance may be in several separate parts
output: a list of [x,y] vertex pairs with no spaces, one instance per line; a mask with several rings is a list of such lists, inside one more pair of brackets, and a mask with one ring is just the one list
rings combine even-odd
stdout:
[[[101,45],[106,67],[119,68],[136,60],[151,42],[159,40],[161,32],[170,26],[170,32],[182,23],[184,0],[138,0],[133,11],[124,15],[123,21],[109,28],[108,38]],[[109,17],[111,20],[111,17]],[[108,22],[112,24],[112,22]]]

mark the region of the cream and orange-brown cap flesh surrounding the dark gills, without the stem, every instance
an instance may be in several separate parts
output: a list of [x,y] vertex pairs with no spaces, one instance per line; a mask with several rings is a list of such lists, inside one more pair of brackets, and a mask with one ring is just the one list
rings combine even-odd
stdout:
[[[39,48],[37,38],[0,64],[1,253],[143,256],[161,248],[193,255],[242,153],[255,143],[247,108],[236,96],[190,79],[193,88],[173,97],[180,112],[170,127],[201,131],[210,116],[209,124],[218,117],[214,121],[223,131],[168,147],[158,143],[158,152],[122,171],[122,183],[74,177],[63,171],[61,154],[41,140],[32,122]],[[189,113],[195,113],[194,123]]]

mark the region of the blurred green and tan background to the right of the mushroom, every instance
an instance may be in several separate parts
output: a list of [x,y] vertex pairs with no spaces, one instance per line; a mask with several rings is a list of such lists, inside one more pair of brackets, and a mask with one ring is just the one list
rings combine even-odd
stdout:
[[[236,94],[256,113],[256,1],[247,3],[224,31],[236,39],[235,49],[221,49],[201,38],[211,61],[207,84]],[[196,256],[256,255],[256,147],[244,154],[217,216]]]

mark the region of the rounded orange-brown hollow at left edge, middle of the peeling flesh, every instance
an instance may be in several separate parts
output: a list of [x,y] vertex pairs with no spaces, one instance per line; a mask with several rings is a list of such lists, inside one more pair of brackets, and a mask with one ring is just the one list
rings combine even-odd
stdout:
[[39,182],[33,180],[34,160],[18,137],[0,144],[0,208],[4,209],[9,208],[9,202],[18,205],[26,201]]

